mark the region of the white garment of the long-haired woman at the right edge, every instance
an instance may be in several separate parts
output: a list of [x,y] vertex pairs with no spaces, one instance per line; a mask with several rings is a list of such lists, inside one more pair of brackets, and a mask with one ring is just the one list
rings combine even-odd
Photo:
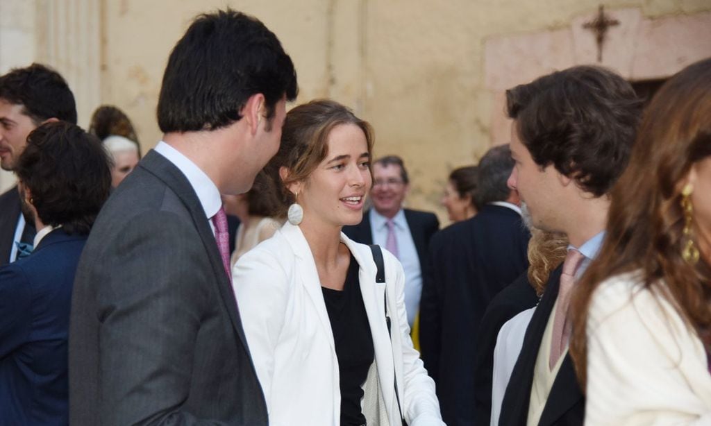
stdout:
[[588,315],[585,425],[711,425],[706,351],[658,289],[609,278]]

